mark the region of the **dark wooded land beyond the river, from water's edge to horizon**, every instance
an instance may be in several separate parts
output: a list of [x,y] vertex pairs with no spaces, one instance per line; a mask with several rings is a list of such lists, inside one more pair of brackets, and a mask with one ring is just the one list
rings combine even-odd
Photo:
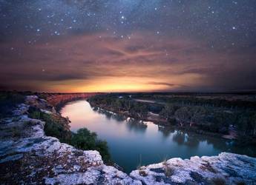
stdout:
[[255,142],[256,138],[254,94],[112,93],[96,95],[88,101],[93,107],[163,126],[230,134],[243,140],[243,144]]

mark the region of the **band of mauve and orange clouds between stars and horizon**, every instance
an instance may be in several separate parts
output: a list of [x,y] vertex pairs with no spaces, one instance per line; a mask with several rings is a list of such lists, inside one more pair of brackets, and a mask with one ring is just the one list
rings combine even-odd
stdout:
[[134,83],[131,88],[141,86],[143,90],[255,87],[255,54],[244,57],[237,50],[216,52],[206,45],[190,38],[156,36],[151,32],[133,33],[131,39],[98,32],[59,36],[34,45],[22,40],[4,42],[0,44],[0,78],[3,87],[10,82],[19,88],[22,83],[30,87],[41,83],[42,87],[33,89],[49,87],[56,91],[60,86],[63,90],[79,86],[82,89],[78,90],[86,91],[105,79],[110,83],[105,85],[122,89],[120,79],[128,78],[130,86]]

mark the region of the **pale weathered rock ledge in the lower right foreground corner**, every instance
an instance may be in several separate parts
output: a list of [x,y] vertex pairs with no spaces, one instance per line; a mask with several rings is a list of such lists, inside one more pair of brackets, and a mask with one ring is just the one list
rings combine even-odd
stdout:
[[130,176],[144,184],[256,184],[256,159],[228,152],[190,160],[171,158],[142,166]]

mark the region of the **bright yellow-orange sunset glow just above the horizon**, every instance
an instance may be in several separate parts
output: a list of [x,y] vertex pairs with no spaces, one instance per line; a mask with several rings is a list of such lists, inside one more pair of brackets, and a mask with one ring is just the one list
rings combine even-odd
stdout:
[[178,84],[169,83],[171,80],[168,78],[105,77],[93,81],[62,81],[61,84],[52,82],[45,84],[45,88],[50,87],[47,89],[49,92],[157,92],[177,90],[186,87],[186,84],[200,82],[200,76],[195,74],[173,76],[172,79]]

